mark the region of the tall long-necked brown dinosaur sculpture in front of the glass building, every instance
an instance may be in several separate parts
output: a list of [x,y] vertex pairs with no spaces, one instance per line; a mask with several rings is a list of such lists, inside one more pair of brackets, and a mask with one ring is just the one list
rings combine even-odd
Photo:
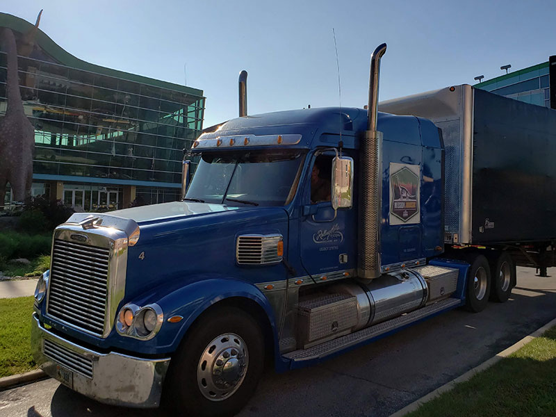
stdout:
[[0,204],[6,195],[6,184],[12,186],[15,201],[22,202],[31,192],[35,128],[29,122],[19,92],[17,47],[13,32],[4,28],[4,50],[8,58],[6,97],[8,108],[0,120]]

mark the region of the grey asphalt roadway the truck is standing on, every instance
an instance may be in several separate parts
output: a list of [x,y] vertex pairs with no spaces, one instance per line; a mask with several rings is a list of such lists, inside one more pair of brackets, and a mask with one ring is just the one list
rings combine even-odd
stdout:
[[[389,416],[555,318],[556,268],[549,275],[518,268],[505,304],[456,309],[311,368],[268,371],[238,416]],[[53,379],[0,392],[0,415],[163,416],[99,404]]]

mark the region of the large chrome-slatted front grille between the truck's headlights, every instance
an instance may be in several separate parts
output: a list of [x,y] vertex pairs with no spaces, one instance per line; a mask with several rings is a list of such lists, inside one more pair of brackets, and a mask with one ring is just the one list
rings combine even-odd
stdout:
[[102,336],[107,302],[110,250],[54,240],[47,313]]

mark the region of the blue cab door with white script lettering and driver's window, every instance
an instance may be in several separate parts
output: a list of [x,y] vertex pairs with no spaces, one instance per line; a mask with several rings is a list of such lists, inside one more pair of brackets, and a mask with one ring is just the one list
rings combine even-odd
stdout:
[[306,273],[316,282],[323,277],[343,277],[344,271],[357,264],[354,209],[343,208],[334,213],[330,202],[333,157],[334,152],[313,156],[311,175],[304,184],[300,216],[301,260]]

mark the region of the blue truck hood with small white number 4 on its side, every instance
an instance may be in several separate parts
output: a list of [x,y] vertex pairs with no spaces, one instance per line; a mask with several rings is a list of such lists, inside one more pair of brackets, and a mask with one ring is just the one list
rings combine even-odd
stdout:
[[[288,249],[288,213],[282,207],[229,207],[220,204],[174,202],[123,210],[137,222],[140,237],[129,247],[126,299],[133,300],[147,288],[179,279],[183,284],[196,275],[271,280],[271,268],[283,278],[283,265],[240,268],[236,240],[242,234],[281,234]],[[152,213],[152,214],[149,214]],[[112,214],[112,213],[111,213]],[[253,275],[253,277],[251,277]]]

